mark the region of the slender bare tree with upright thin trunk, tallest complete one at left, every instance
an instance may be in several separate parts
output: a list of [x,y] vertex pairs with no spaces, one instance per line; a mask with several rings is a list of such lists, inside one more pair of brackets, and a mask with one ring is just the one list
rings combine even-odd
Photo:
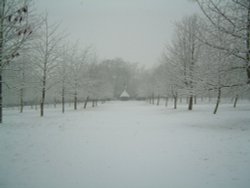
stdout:
[[57,80],[54,80],[56,67],[58,66],[59,44],[63,35],[58,34],[58,24],[49,24],[48,16],[45,15],[43,25],[39,30],[39,37],[34,44],[33,62],[40,82],[41,100],[40,116],[44,116],[44,103],[46,91],[51,89]]

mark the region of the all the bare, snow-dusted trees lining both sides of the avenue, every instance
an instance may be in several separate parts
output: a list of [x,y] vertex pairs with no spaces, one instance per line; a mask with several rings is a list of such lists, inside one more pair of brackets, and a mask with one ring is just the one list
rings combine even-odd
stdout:
[[[0,1],[0,123],[4,106],[39,109],[72,103],[86,108],[118,99],[124,89],[133,99],[168,106],[173,99],[192,110],[197,98],[249,97],[250,1],[193,0],[201,15],[175,24],[157,65],[146,69],[121,58],[99,60],[91,46],[67,42],[49,15],[36,16],[30,1]],[[81,46],[81,47],[80,47]],[[115,55],[115,54],[114,54]],[[2,98],[3,96],[3,98]],[[39,107],[39,108],[38,108]]]

